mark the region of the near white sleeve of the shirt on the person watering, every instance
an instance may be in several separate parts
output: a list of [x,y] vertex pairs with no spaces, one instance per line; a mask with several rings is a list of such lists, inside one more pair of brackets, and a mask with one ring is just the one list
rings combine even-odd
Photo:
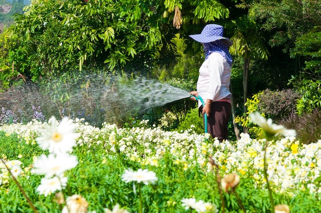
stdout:
[[210,54],[208,70],[210,79],[207,97],[208,99],[215,100],[222,86],[222,77],[224,72],[223,56],[215,52]]

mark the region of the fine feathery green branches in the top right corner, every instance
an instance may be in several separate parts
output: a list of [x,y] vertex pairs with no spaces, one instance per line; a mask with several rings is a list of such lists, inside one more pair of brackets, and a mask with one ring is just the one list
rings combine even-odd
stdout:
[[250,15],[273,33],[269,44],[284,45],[287,52],[298,36],[309,32],[319,23],[320,4],[315,1],[259,1],[252,4]]

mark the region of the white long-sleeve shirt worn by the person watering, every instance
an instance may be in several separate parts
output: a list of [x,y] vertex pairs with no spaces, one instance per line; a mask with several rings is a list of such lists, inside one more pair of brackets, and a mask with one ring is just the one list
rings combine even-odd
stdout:
[[[231,66],[219,53],[213,52],[199,68],[196,90],[204,102],[221,100],[231,94]],[[202,103],[198,101],[198,107]]]

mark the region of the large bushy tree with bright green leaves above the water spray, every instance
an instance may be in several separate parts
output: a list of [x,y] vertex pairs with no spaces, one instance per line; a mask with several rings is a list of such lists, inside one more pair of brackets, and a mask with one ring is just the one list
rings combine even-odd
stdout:
[[150,51],[157,50],[162,40],[159,29],[149,25],[154,15],[152,8],[131,0],[122,5],[107,0],[37,1],[23,15],[16,15],[13,33],[27,49],[30,76],[36,80],[89,64],[124,67],[136,55],[143,55],[143,62],[151,65]]

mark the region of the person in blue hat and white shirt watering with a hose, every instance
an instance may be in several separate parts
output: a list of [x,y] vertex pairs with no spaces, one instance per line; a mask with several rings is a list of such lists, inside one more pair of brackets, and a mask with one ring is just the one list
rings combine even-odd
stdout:
[[[208,117],[208,133],[222,142],[228,137],[227,125],[231,116],[231,80],[232,56],[229,47],[232,41],[223,37],[223,27],[206,25],[200,34],[190,35],[202,43],[205,51],[205,61],[199,68],[197,91],[190,95],[200,96],[204,106],[198,101],[199,112]],[[195,101],[194,97],[191,97]]]

